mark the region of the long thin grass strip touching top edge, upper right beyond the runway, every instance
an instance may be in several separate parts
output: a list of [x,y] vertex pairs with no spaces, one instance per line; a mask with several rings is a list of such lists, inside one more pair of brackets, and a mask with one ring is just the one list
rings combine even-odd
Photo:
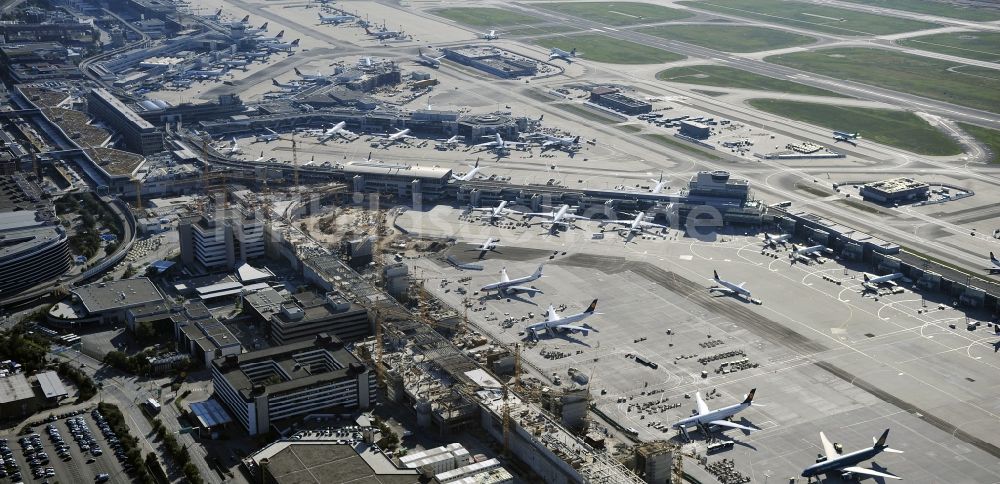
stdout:
[[836,7],[783,0],[702,0],[678,2],[702,10],[765,20],[836,35],[898,34],[937,24],[887,17]]

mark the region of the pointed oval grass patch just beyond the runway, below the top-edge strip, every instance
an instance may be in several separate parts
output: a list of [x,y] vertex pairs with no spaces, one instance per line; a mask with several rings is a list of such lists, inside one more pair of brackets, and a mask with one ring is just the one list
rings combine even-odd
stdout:
[[806,35],[740,25],[661,25],[640,29],[639,32],[725,52],[760,52],[816,41]]

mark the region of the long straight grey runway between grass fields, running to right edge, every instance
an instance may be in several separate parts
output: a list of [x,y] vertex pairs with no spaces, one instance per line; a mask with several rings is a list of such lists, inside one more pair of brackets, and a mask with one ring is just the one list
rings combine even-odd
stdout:
[[845,81],[828,76],[822,76],[819,74],[808,73],[798,69],[784,67],[777,64],[770,64],[755,59],[748,59],[746,57],[732,55],[725,52],[696,46],[693,44],[688,44],[675,40],[665,40],[660,37],[641,34],[627,29],[619,29],[619,28],[609,29],[605,28],[604,24],[601,24],[599,22],[593,22],[590,20],[585,20],[579,17],[572,17],[568,15],[567,16],[555,15],[543,9],[532,8],[531,4],[517,3],[515,4],[515,6],[519,10],[530,12],[531,15],[534,15],[536,17],[544,18],[545,20],[550,22],[557,22],[570,25],[572,27],[576,27],[581,30],[597,29],[601,30],[602,34],[610,37],[622,40],[628,40],[631,42],[636,42],[639,44],[648,45],[652,47],[658,47],[661,49],[669,50],[671,52],[676,52],[678,54],[683,54],[689,57],[700,57],[703,59],[715,60],[721,62],[724,65],[743,69],[749,72],[753,72],[755,74],[762,74],[765,76],[776,77],[778,79],[795,78],[795,81],[801,84],[806,84],[821,89],[828,89],[831,91],[839,92],[841,94],[847,94],[861,99],[885,102],[897,106],[916,107],[920,110],[948,116],[949,118],[957,121],[966,121],[970,123],[988,126],[993,129],[1000,129],[1000,116],[998,116],[996,113],[991,113],[984,110],[972,109],[962,106],[956,106],[951,103],[935,101],[933,99],[928,99],[921,96],[901,93],[897,91],[892,91],[890,89],[883,89],[858,82]]

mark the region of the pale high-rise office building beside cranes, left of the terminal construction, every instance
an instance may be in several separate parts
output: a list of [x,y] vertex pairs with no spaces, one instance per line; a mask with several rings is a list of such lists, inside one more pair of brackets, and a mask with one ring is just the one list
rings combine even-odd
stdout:
[[252,212],[220,210],[182,219],[181,262],[195,272],[231,271],[264,255],[264,224]]

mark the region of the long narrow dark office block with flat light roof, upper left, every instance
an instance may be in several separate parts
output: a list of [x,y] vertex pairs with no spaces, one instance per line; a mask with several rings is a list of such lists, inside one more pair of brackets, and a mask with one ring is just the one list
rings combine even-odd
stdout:
[[163,151],[163,133],[107,90],[90,90],[87,113],[113,127],[136,153],[149,155]]

